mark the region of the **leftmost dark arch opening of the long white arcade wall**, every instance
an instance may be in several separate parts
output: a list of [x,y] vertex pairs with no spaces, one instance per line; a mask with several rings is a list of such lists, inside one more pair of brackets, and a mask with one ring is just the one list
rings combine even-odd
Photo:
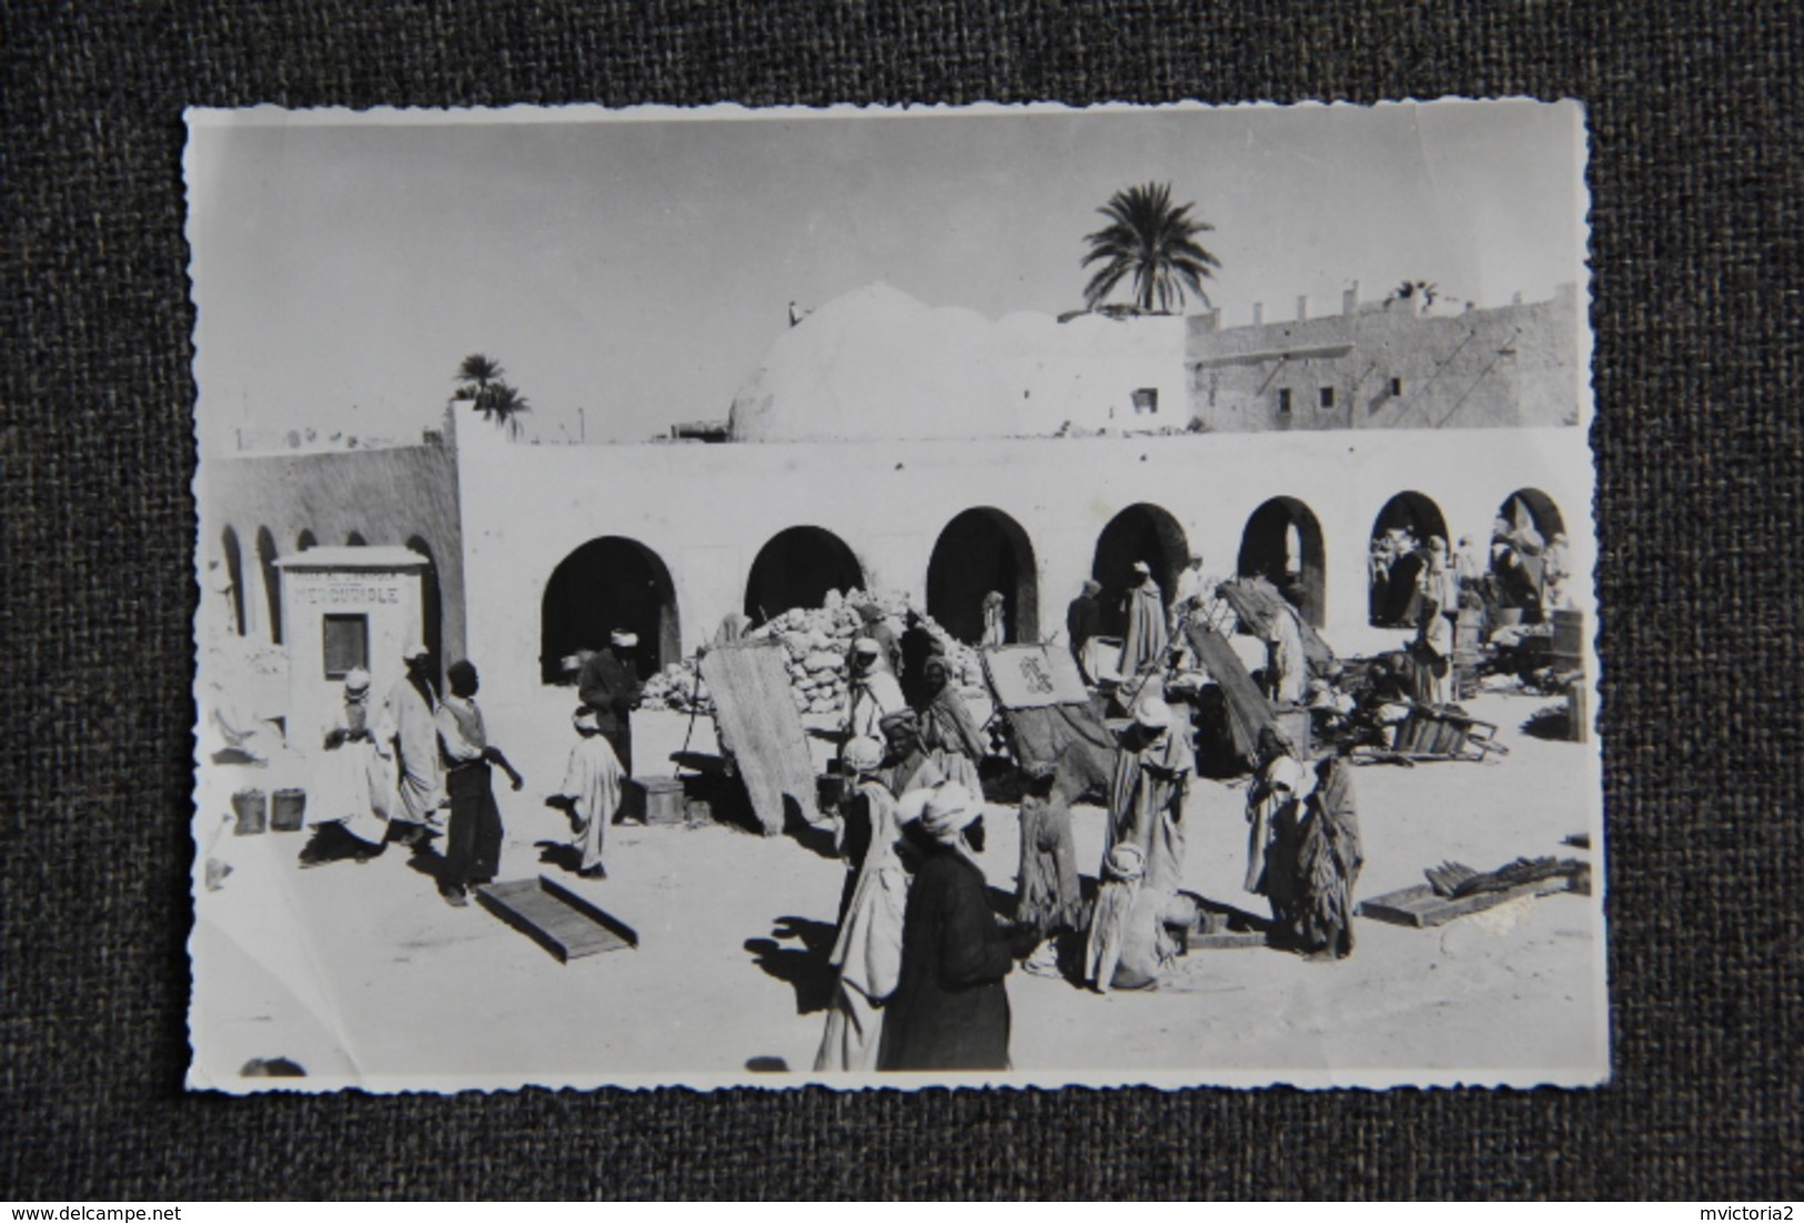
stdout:
[[559,561],[545,583],[541,682],[568,684],[572,676],[565,675],[563,660],[577,649],[603,649],[613,630],[639,635],[646,669],[662,669],[682,657],[669,566],[637,539],[601,536]]

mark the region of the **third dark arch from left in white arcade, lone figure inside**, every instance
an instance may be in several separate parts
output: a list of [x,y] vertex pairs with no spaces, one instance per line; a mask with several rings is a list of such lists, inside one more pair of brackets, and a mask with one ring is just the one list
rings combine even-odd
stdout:
[[1034,545],[1014,518],[981,505],[945,525],[927,561],[927,615],[974,646],[983,640],[983,601],[1003,597],[1003,640],[1039,640],[1039,574]]

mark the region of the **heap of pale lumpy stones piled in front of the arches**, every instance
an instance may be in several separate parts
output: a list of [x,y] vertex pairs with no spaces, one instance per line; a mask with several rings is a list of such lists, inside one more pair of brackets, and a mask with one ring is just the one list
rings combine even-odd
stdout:
[[[895,592],[837,590],[826,592],[819,608],[790,608],[745,635],[747,640],[776,640],[787,655],[790,696],[803,714],[837,714],[846,709],[846,655],[851,642],[866,633],[859,608],[875,604],[884,612],[889,630],[900,637],[907,624],[907,595]],[[983,687],[983,664],[978,651],[940,628],[927,615],[922,626],[940,646],[960,687]],[[642,709],[676,709],[680,713],[714,713],[707,684],[700,680],[695,658],[673,662],[646,680]]]

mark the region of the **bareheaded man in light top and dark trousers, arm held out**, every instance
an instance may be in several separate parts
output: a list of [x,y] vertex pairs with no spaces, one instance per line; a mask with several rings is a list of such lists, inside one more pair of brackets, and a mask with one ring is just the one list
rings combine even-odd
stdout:
[[525,779],[507,763],[502,749],[489,745],[489,731],[476,709],[476,667],[453,662],[446,671],[451,694],[438,705],[438,743],[446,756],[446,788],[451,792],[451,826],[438,873],[438,895],[462,909],[471,884],[487,884],[502,868],[502,810],[494,805],[489,765],[500,765],[514,788]]

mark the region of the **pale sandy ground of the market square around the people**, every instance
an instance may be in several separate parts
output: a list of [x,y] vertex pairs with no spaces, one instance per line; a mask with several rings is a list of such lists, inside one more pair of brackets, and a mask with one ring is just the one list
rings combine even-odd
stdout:
[[[1519,727],[1544,698],[1485,694],[1468,709],[1501,727],[1496,763],[1355,772],[1366,871],[1360,897],[1423,882],[1456,859],[1479,869],[1517,855],[1591,857],[1600,844],[1595,747]],[[640,761],[680,745],[675,714],[640,723]],[[482,907],[447,907],[399,848],[368,864],[299,869],[301,833],[236,837],[229,795],[281,785],[265,770],[209,768],[197,805],[191,1028],[197,1086],[801,1082],[828,989],[823,956],[842,866],[794,837],[707,824],[615,826],[610,877],[543,862],[568,839],[543,795],[566,743],[511,743],[527,788],[498,788],[503,878],[559,877],[637,929],[637,949],[568,965]],[[642,767],[642,772],[646,768]],[[1241,889],[1245,790],[1201,781],[1185,814],[1187,886],[1265,913]],[[990,806],[983,862],[1014,889],[1012,808]],[[1079,866],[1102,846],[1102,812],[1075,814]],[[1597,893],[1602,893],[1600,871]],[[1357,924],[1358,949],[1308,963],[1268,949],[1194,951],[1165,989],[1097,996],[1014,972],[1012,1059],[1035,1082],[1593,1082],[1606,1073],[1600,895],[1517,900],[1438,929]],[[244,1079],[287,1057],[307,1079]]]

